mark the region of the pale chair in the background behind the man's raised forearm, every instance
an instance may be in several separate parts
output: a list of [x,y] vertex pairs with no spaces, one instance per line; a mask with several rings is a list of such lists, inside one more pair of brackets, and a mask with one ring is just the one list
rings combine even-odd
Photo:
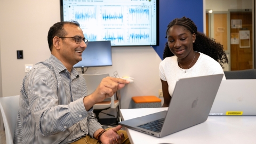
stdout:
[[[99,86],[100,82],[103,78],[109,76],[109,74],[95,74],[95,75],[85,75],[83,74],[83,77],[85,78],[86,85],[87,85],[87,94],[93,93],[97,87]],[[99,121],[99,114],[102,110],[106,110],[109,108],[116,108],[119,105],[119,101],[115,100],[114,95],[110,97],[110,100],[106,99],[105,101],[99,102],[93,106],[93,112],[96,115],[96,118]],[[119,108],[117,109],[117,119],[119,119]]]

